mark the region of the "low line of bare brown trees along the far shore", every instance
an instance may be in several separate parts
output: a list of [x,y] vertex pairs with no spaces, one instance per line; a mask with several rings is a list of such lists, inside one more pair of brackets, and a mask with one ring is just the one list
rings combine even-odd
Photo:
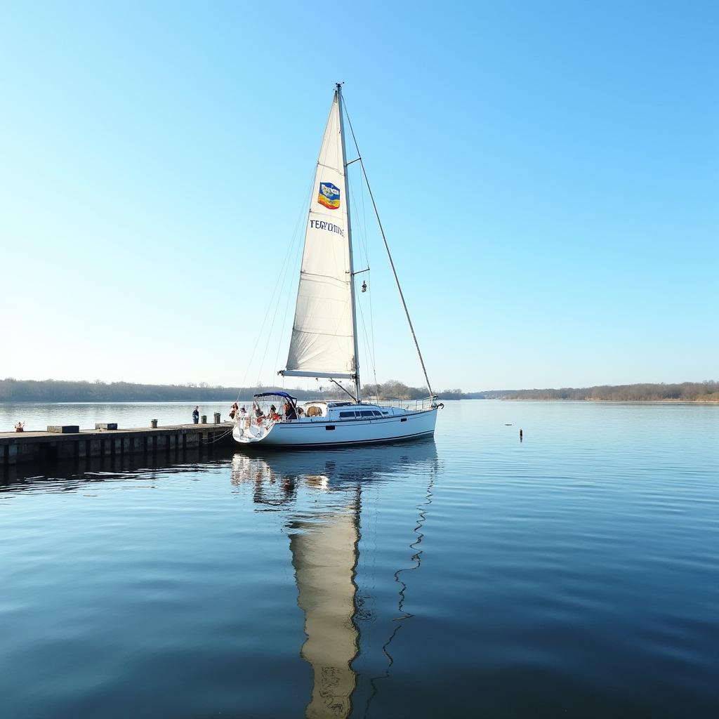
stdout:
[[[328,383],[329,384],[329,383]],[[211,387],[198,385],[140,385],[130,382],[104,383],[68,382],[66,380],[0,380],[0,402],[224,402],[252,400],[256,392],[283,390],[280,387]],[[348,391],[352,391],[347,387]],[[323,385],[316,390],[290,388],[298,399],[348,399],[347,393],[336,385]],[[416,400],[426,397],[426,388],[410,387],[398,380],[377,385],[362,385],[365,400]],[[684,382],[679,385],[638,384],[602,385],[599,387],[561,388],[559,390],[486,390],[462,392],[460,389],[442,390],[441,400],[503,399],[503,400],[603,400],[612,402],[652,402],[677,400],[682,402],[719,402],[719,383]]]

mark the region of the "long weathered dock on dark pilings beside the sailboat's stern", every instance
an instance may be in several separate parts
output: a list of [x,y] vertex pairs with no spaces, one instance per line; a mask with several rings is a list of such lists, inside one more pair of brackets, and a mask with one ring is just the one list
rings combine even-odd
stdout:
[[55,432],[0,432],[0,467],[60,459],[124,457],[232,446],[232,422],[178,424],[138,429],[82,429]]

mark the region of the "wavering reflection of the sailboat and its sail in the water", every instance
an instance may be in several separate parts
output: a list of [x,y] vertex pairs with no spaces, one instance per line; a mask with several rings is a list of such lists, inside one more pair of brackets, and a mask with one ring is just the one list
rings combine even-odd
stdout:
[[[406,588],[400,572],[419,566],[418,544],[422,537],[419,530],[424,521],[424,505],[431,502],[437,467],[433,440],[333,452],[235,455],[232,481],[254,482],[255,502],[289,510],[286,530],[307,636],[301,656],[310,664],[313,674],[312,697],[305,710],[308,719],[349,717],[358,699],[366,710],[376,692],[375,680],[388,676],[391,661],[388,642],[398,629],[397,609],[399,606],[402,612]],[[372,551],[376,540],[368,537],[367,527],[362,526],[362,493],[374,482],[402,482],[408,475],[413,475],[414,480],[421,477],[423,483],[423,493],[417,496],[418,503],[413,504],[412,521],[407,528],[407,536],[413,540],[408,557],[413,562],[397,567],[394,575],[383,578],[390,585],[396,582],[393,616],[387,618],[383,640],[380,638],[379,644],[373,645],[379,650],[375,661],[362,658],[370,659],[362,661],[363,666],[370,667],[370,673],[362,676],[357,670],[360,653],[373,644],[363,642],[362,633],[369,626],[367,620],[376,619],[365,604],[371,587],[359,567],[360,552]],[[298,494],[304,489],[334,492],[336,501],[324,503],[324,510],[319,512],[306,508],[300,511],[299,507],[293,511]],[[363,566],[370,564],[373,562],[362,562]],[[363,592],[365,581],[368,589]]]

